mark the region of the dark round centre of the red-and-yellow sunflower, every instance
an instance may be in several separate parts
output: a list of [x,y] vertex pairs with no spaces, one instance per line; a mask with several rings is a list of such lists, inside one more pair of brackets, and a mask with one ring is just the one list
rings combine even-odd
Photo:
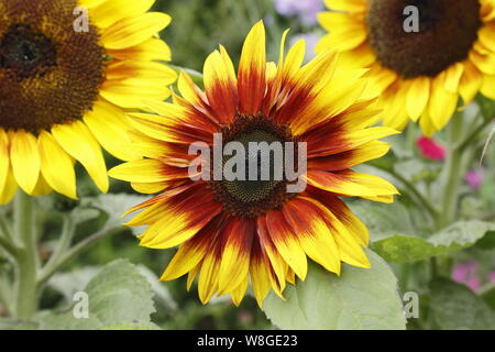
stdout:
[[[245,151],[245,168],[243,179],[228,180],[212,180],[209,187],[213,191],[215,198],[223,204],[224,210],[233,216],[241,216],[244,218],[255,218],[260,215],[266,213],[272,209],[279,209],[284,202],[294,195],[287,193],[288,182],[285,179],[285,173],[276,167],[284,167],[283,161],[278,161],[279,165],[275,163],[276,157],[280,157],[271,146],[278,144],[283,146],[282,157],[285,158],[285,142],[294,142],[297,147],[297,141],[292,135],[286,125],[277,125],[270,119],[262,116],[238,116],[235,122],[221,131],[223,146],[229,142],[239,142],[243,145]],[[258,148],[253,153],[250,143],[256,143]],[[264,144],[260,144],[266,142]],[[263,157],[270,155],[270,158],[263,164]],[[294,155],[297,155],[295,151]],[[222,166],[231,158],[224,156]],[[256,164],[256,168],[251,172],[256,175],[255,179],[250,178],[250,165]],[[297,164],[296,164],[297,165]],[[263,168],[270,166],[270,177],[263,179]],[[237,172],[237,168],[233,168]],[[276,176],[276,173],[282,172],[283,178]]]

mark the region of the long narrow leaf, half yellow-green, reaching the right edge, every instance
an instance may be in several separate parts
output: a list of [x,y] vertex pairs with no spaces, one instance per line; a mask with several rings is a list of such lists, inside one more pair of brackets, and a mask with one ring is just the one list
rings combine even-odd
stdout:
[[461,221],[429,239],[393,235],[374,242],[372,249],[387,262],[408,263],[470,248],[494,230],[494,223],[480,220]]

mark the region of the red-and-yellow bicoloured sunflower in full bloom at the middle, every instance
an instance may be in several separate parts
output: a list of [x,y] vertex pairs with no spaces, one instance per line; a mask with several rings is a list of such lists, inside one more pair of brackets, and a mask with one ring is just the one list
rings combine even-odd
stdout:
[[[339,197],[391,202],[397,194],[389,183],[350,169],[387,153],[388,144],[377,139],[396,133],[367,128],[377,121],[377,110],[374,100],[361,98],[363,72],[336,70],[338,55],[330,52],[301,67],[305,43],[297,42],[285,56],[286,35],[278,66],[266,62],[265,30],[258,22],[245,40],[238,75],[223,46],[205,63],[205,91],[180,73],[182,97],[147,101],[155,114],[129,114],[150,138],[134,134],[130,148],[146,158],[110,170],[138,191],[158,194],[130,210],[141,211],[128,226],[147,226],[142,246],[180,245],[161,279],[188,274],[189,288],[199,274],[204,304],[213,294],[230,294],[239,305],[250,277],[260,305],[271,288],[283,297],[287,282],[305,279],[307,256],[337,274],[341,262],[369,267],[362,249],[367,230]],[[189,145],[211,147],[217,134],[223,145],[306,143],[307,172],[299,175],[306,189],[289,193],[285,176],[189,177],[196,158]]]

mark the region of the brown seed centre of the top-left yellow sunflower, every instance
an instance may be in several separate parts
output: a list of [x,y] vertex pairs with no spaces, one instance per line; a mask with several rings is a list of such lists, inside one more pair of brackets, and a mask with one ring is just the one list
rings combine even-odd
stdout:
[[105,79],[97,28],[76,0],[0,0],[0,128],[32,133],[80,119]]

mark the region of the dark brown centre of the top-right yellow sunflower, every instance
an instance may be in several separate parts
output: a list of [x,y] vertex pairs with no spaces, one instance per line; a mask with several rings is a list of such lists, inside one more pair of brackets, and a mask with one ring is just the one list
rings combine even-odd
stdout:
[[[418,9],[419,31],[405,30]],[[369,40],[381,64],[405,78],[435,77],[468,58],[482,26],[479,0],[370,0]],[[406,26],[407,28],[407,26]]]

